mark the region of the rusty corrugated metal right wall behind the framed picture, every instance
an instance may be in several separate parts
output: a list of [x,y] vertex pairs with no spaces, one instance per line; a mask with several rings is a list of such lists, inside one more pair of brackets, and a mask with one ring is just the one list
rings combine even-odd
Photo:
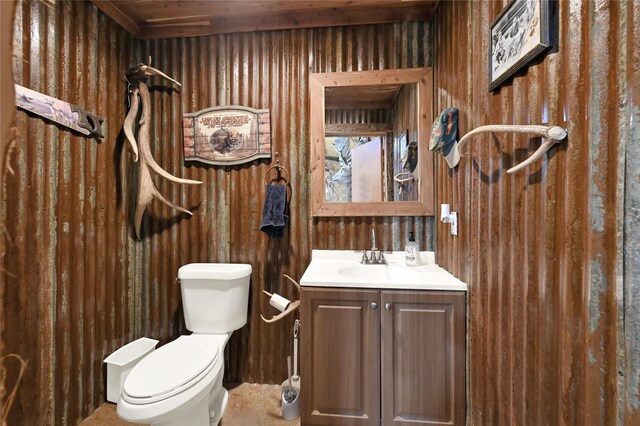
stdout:
[[550,123],[569,136],[513,175],[539,139],[487,134],[457,169],[436,160],[436,202],[461,221],[458,237],[436,225],[438,262],[470,290],[469,421],[639,424],[638,242],[623,238],[638,195],[635,213],[623,209],[625,173],[627,196],[640,181],[625,170],[638,164],[640,7],[551,2],[557,47],[489,93],[489,28],[506,4],[441,5],[435,110],[459,107],[461,134]]

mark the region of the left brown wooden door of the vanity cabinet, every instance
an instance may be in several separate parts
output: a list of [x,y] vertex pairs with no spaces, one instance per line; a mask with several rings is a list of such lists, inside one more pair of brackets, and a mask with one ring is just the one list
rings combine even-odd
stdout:
[[379,303],[378,291],[302,289],[303,425],[380,424]]

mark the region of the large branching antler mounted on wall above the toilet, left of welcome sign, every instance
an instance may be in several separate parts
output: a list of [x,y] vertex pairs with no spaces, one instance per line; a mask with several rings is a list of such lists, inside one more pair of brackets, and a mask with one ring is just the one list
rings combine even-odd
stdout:
[[[168,173],[156,163],[151,155],[151,146],[149,139],[149,125],[151,123],[151,97],[149,96],[149,88],[147,87],[147,78],[153,75],[165,78],[178,86],[182,86],[176,80],[172,79],[160,70],[151,67],[151,57],[149,64],[138,64],[129,68],[127,71],[127,82],[129,84],[130,104],[131,108],[124,120],[124,134],[131,145],[133,151],[133,161],[138,161],[140,157],[140,180],[138,186],[138,198],[136,202],[135,229],[136,236],[140,238],[140,224],[142,223],[142,215],[144,210],[154,198],[162,201],[164,204],[173,207],[176,210],[192,215],[192,213],[180,206],[168,201],[158,192],[157,188],[151,180],[151,172],[149,167],[163,178],[176,183],[184,183],[190,185],[201,184],[202,182],[191,179],[182,179]],[[142,117],[140,118],[140,128],[138,129],[138,140],[134,136],[135,120],[138,116],[140,100],[142,101]]]

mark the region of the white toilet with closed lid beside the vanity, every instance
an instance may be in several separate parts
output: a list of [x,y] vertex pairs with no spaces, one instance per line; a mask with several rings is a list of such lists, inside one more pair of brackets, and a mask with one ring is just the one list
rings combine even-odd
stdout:
[[152,425],[217,425],[227,405],[224,347],[247,322],[251,265],[192,263],[178,270],[187,329],[127,376],[118,416]]

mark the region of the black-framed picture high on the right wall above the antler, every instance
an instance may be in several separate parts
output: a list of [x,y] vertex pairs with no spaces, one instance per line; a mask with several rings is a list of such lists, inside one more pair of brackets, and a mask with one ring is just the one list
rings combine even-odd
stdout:
[[491,24],[489,91],[550,45],[549,0],[512,0]]

